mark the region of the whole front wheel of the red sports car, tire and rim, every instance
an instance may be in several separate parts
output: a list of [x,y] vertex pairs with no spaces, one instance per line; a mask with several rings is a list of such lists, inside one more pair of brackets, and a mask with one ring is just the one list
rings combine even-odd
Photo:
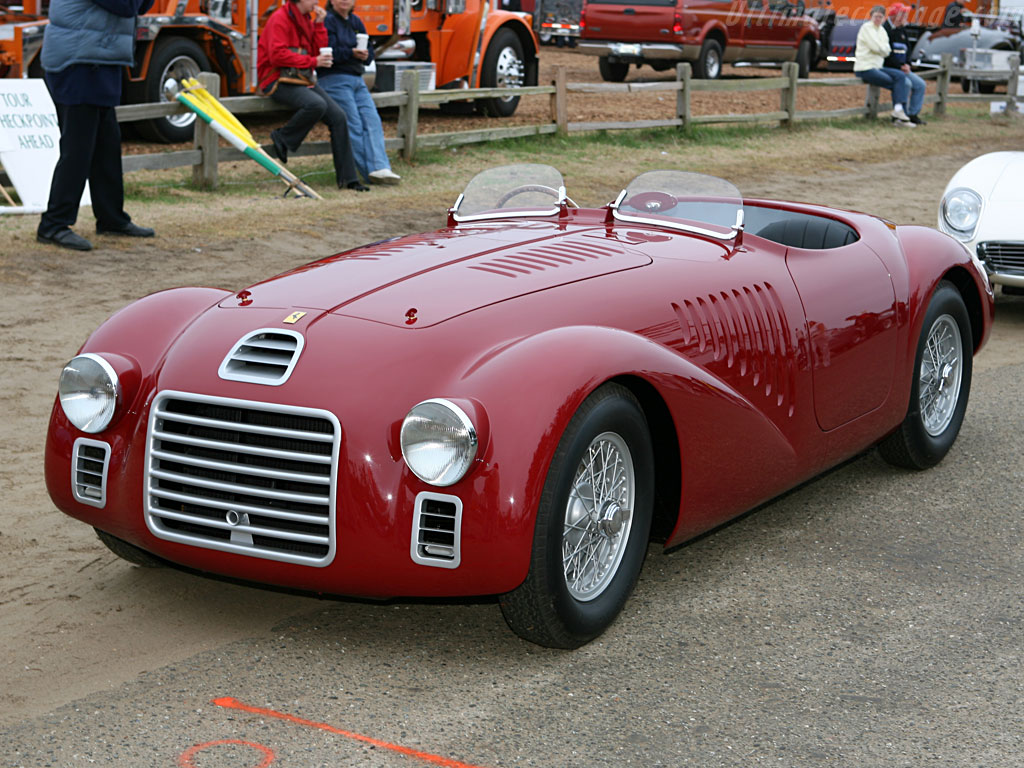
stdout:
[[578,648],[615,620],[647,552],[653,466],[632,392],[606,384],[584,401],[548,470],[526,580],[501,597],[513,632]]

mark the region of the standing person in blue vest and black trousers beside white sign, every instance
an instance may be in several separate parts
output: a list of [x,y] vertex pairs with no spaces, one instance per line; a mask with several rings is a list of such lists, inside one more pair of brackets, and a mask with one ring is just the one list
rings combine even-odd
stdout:
[[125,213],[121,172],[121,78],[135,53],[137,16],[153,0],[52,0],[40,60],[60,125],[60,158],[36,240],[75,251],[92,244],[72,231],[89,182],[98,234],[152,238]]

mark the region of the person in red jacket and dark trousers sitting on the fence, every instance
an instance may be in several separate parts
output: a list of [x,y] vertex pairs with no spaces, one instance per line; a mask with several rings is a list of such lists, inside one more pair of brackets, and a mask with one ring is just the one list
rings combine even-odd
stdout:
[[[366,191],[359,181],[348,141],[345,113],[316,85],[315,68],[331,67],[324,16],[317,0],[286,0],[266,22],[259,39],[257,79],[262,93],[295,110],[284,127],[270,132],[270,140],[282,163],[299,148],[310,129],[321,120],[331,131],[331,154],[338,188]],[[311,15],[310,15],[311,14]],[[306,80],[307,82],[303,82]]]

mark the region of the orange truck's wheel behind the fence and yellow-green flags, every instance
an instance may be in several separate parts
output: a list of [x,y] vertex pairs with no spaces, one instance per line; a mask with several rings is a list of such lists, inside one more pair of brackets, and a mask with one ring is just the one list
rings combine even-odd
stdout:
[[[156,42],[150,70],[141,88],[132,94],[133,101],[154,103],[173,100],[168,98],[165,84],[183,77],[196,77],[201,72],[210,71],[210,59],[196,43],[183,37],[167,37]],[[180,143],[190,141],[194,113],[171,115],[138,123],[138,131],[151,141]]]

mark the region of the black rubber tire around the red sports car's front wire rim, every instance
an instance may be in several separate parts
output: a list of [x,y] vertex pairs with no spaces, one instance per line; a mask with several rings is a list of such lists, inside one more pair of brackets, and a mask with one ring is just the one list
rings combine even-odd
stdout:
[[[577,467],[593,439],[604,432],[620,435],[630,450],[635,474],[633,522],[626,551],[611,583],[596,598],[584,602],[573,598],[565,584],[561,559],[565,508]],[[643,564],[653,507],[653,452],[639,406],[632,398],[615,394],[614,390],[593,403],[578,423],[570,424],[562,439],[545,482],[542,499],[545,509],[538,516],[538,525],[543,527],[538,535],[546,537],[546,586],[555,612],[568,634],[586,641],[614,621],[632,593]]]

